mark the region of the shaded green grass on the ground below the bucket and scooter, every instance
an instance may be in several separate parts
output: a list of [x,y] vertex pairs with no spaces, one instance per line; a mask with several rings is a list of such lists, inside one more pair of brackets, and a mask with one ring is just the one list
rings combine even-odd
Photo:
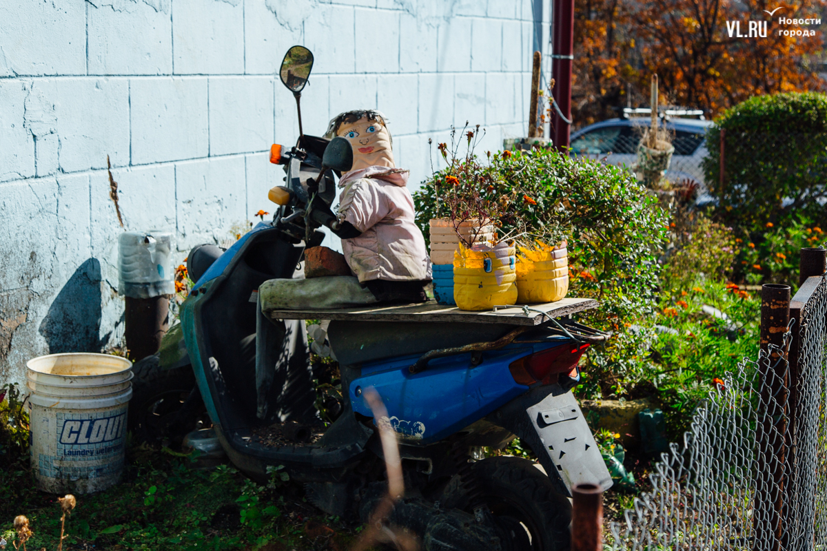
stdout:
[[[355,540],[337,517],[304,500],[301,487],[275,472],[259,486],[221,465],[199,470],[194,455],[131,446],[125,479],[93,495],[77,496],[66,518],[63,549],[347,549]],[[12,543],[12,521],[26,515],[28,549],[57,549],[57,496],[40,492],[17,458],[0,484],[0,534]]]

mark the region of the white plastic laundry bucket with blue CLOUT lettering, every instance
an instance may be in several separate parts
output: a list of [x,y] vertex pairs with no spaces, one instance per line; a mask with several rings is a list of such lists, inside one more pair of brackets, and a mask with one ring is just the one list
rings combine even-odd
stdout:
[[45,492],[100,492],[123,473],[132,363],[50,354],[26,363],[31,467]]

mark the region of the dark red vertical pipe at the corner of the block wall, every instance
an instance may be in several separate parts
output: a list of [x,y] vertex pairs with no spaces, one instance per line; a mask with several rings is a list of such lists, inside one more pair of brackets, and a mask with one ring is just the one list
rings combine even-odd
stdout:
[[[571,65],[574,63],[574,0],[554,2],[554,50],[552,51],[552,78],[557,107],[571,121]],[[552,138],[557,150],[566,150],[570,144],[571,124],[552,109]]]

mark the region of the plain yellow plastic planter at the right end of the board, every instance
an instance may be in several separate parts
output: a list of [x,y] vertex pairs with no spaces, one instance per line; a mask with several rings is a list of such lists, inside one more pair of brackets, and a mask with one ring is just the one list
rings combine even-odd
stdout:
[[542,243],[536,249],[519,248],[517,257],[517,303],[556,302],[568,292],[566,242],[557,247]]

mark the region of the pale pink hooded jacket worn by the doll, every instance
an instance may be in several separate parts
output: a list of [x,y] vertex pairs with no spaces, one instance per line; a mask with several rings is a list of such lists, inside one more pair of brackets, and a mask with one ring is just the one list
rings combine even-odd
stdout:
[[407,170],[380,166],[353,170],[339,180],[339,220],[362,232],[342,240],[347,264],[360,283],[431,279],[431,259],[414,224],[407,183]]

